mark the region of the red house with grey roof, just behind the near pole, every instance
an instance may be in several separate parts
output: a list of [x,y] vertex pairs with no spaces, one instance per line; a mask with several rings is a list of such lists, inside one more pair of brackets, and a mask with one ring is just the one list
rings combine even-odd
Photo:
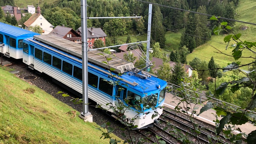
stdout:
[[[79,33],[80,35],[82,35],[82,28],[78,28],[76,30],[77,33]],[[105,45],[105,37],[107,35],[104,33],[104,31],[101,28],[87,28],[87,44],[88,44],[88,48],[93,48],[93,43],[95,40],[102,40],[104,45]]]

